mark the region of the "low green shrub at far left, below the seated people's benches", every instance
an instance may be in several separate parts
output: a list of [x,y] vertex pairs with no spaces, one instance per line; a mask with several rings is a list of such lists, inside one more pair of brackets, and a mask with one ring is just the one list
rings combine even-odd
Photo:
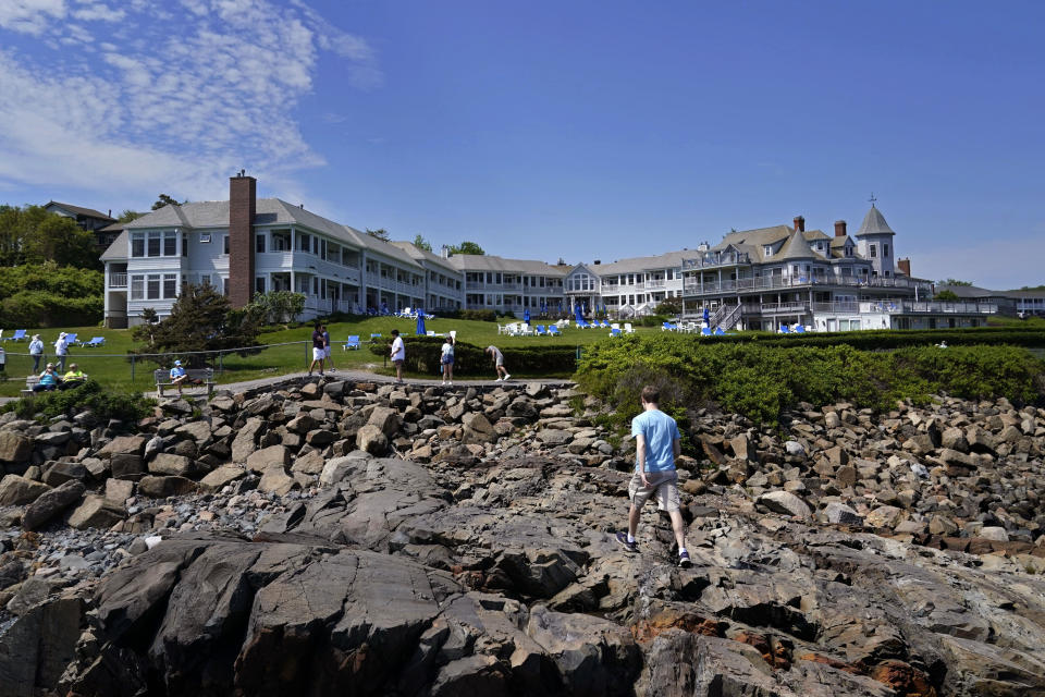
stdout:
[[0,412],[15,412],[20,418],[33,418],[37,414],[53,418],[90,411],[101,421],[119,419],[131,427],[138,419],[148,416],[155,404],[155,400],[138,393],[102,389],[98,382],[88,380],[71,390],[39,392],[9,402],[0,407]]

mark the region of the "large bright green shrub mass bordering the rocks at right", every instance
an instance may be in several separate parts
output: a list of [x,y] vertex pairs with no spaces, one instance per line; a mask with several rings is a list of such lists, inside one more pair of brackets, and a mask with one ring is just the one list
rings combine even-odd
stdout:
[[666,408],[715,402],[727,412],[776,424],[799,402],[815,407],[851,402],[890,408],[938,392],[967,399],[1005,396],[1040,402],[1045,363],[1016,346],[905,347],[859,351],[850,345],[714,343],[690,337],[624,337],[587,347],[576,380],[608,400],[620,418],[638,412],[643,384],[661,387]]

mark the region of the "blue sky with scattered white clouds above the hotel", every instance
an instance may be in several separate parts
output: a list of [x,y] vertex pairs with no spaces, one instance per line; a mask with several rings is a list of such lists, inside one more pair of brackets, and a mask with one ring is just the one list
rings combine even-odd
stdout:
[[1045,282],[1040,2],[0,1],[0,201],[260,194],[555,261],[874,192],[915,276]]

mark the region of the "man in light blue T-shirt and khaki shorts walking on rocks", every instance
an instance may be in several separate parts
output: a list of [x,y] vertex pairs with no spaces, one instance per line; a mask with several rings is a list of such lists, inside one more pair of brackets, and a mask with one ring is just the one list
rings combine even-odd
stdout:
[[642,413],[631,419],[635,436],[635,474],[628,485],[631,509],[628,511],[628,531],[617,533],[617,541],[629,552],[638,552],[635,536],[639,529],[642,506],[650,498],[656,499],[657,509],[667,511],[672,518],[675,541],[678,542],[678,564],[690,564],[686,550],[686,523],[679,509],[678,473],[675,458],[681,454],[678,424],[660,409],[660,391],[648,384],[642,388]]

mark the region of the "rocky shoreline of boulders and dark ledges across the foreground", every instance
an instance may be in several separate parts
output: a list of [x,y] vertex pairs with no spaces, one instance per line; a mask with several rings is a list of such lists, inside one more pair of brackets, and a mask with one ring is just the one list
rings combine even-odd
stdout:
[[567,388],[0,416],[0,697],[1045,694],[1045,411],[690,414],[693,567]]

